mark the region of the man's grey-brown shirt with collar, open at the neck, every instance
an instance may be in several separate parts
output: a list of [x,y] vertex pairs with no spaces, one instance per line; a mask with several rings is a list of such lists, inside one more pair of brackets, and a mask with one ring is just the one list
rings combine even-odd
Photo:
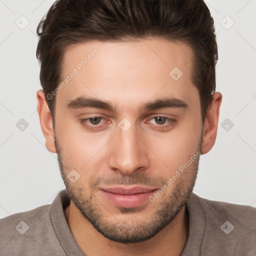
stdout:
[[[65,219],[69,203],[61,190],[50,205],[0,219],[0,255],[84,256]],[[256,255],[256,208],[194,193],[186,207],[189,232],[182,256]]]

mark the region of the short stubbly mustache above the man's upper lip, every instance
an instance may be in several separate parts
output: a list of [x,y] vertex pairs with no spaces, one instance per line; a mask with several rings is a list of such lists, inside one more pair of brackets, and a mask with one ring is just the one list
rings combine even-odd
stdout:
[[99,184],[105,185],[145,185],[145,186],[163,186],[166,183],[166,177],[142,173],[132,173],[130,175],[108,174],[105,176],[94,176],[89,181],[89,186],[94,189]]

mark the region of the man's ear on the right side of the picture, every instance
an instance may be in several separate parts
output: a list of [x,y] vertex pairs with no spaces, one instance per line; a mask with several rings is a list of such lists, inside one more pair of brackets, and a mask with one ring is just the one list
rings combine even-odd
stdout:
[[206,112],[203,122],[203,136],[201,145],[201,154],[206,154],[212,148],[216,140],[219,107],[222,100],[220,92],[215,92],[212,95],[213,99]]

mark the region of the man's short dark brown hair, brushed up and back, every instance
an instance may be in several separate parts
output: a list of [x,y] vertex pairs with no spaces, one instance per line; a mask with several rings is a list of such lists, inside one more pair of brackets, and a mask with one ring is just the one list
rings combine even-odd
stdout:
[[[71,44],[153,36],[186,42],[194,53],[192,82],[204,120],[215,91],[218,54],[213,18],[203,0],[56,0],[39,22],[37,35],[45,96],[57,87],[63,54]],[[55,98],[46,100],[54,120]]]

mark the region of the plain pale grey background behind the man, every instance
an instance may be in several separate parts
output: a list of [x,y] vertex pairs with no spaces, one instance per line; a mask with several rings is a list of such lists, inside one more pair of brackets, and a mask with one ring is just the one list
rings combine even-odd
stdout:
[[[0,217],[51,203],[64,188],[56,154],[45,148],[36,111],[40,83],[35,31],[52,3],[0,0]],[[216,90],[223,100],[216,142],[200,157],[194,192],[256,207],[256,0],[206,4],[215,20]],[[29,24],[21,29],[26,20]],[[21,118],[29,125],[23,131],[16,127]],[[222,127],[226,123],[221,126],[226,118],[234,124],[227,131]]]

